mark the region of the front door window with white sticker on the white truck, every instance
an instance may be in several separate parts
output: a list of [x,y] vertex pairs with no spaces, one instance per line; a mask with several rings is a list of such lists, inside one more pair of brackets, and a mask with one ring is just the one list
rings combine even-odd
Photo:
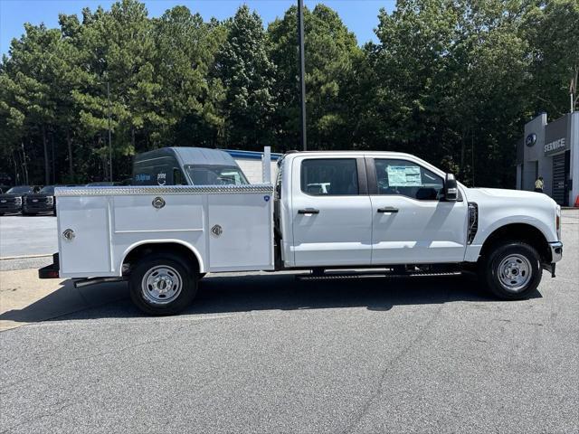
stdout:
[[441,198],[444,180],[412,161],[375,159],[378,194],[398,194],[419,201]]

